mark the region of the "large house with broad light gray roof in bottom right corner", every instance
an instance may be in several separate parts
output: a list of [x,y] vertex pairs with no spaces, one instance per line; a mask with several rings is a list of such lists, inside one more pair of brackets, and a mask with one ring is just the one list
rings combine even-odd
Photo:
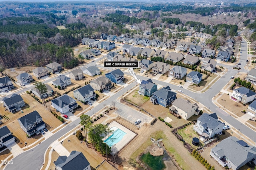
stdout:
[[223,139],[211,149],[212,156],[223,168],[238,170],[252,159],[256,159],[256,147],[248,145],[235,136]]

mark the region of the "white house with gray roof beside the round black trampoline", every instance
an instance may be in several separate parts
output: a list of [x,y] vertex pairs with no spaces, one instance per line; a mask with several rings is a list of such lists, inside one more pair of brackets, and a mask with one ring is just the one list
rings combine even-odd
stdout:
[[203,113],[198,117],[193,129],[202,136],[200,140],[212,138],[215,134],[222,132],[224,124],[218,121],[216,113]]

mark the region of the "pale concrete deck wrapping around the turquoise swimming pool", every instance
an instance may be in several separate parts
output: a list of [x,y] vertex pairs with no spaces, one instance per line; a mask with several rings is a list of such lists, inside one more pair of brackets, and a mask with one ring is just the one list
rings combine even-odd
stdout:
[[114,144],[111,147],[111,150],[114,153],[120,151],[126,144],[128,144],[137,135],[136,133],[132,132],[131,130],[129,130],[128,128],[124,127],[123,125],[117,123],[116,121],[111,122],[108,125],[108,127],[109,128],[117,127],[120,130],[126,132],[124,137],[119,142],[117,142],[116,144]]

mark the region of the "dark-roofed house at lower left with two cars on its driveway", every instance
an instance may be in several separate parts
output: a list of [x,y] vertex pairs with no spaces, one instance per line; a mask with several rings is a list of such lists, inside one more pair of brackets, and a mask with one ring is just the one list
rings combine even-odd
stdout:
[[39,134],[40,130],[46,128],[46,125],[37,111],[33,111],[18,119],[20,127],[28,136]]

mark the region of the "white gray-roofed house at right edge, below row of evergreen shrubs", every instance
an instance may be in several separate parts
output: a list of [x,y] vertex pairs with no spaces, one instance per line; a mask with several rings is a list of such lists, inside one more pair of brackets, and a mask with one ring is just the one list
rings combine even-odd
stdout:
[[256,93],[246,87],[240,87],[233,90],[231,97],[237,99],[237,101],[240,101],[243,104],[246,104],[255,99]]

